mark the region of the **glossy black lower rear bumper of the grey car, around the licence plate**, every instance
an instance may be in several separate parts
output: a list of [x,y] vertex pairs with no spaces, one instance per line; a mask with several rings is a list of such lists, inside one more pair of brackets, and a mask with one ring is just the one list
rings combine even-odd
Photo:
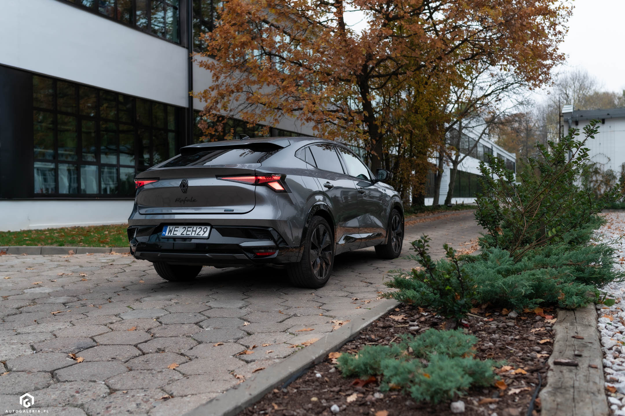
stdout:
[[[214,226],[209,238],[162,238],[163,225],[130,226],[128,239],[134,257],[148,261],[206,266],[252,266],[299,261],[299,246],[288,246],[272,228]],[[270,255],[259,251],[273,251]]]

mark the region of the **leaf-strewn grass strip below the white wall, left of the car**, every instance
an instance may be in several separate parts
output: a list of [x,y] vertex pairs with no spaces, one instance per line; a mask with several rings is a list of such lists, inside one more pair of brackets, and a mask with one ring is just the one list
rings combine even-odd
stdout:
[[0,231],[0,246],[126,247],[128,224]]

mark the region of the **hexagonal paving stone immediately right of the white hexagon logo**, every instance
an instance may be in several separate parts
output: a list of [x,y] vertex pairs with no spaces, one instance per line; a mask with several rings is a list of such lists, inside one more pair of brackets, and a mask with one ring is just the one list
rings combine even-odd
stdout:
[[[54,383],[50,387],[37,390],[35,405],[37,407],[78,406],[89,400],[101,399],[108,394],[108,387],[102,383],[84,381]],[[57,411],[60,412],[60,410]]]

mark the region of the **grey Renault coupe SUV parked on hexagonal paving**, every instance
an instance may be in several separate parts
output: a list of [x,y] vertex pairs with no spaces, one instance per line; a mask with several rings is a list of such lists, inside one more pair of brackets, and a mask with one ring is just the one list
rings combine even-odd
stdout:
[[194,279],[203,265],[266,265],[286,268],[296,286],[321,288],[336,254],[401,253],[403,209],[387,175],[314,137],[183,147],[136,176],[131,251],[169,281]]

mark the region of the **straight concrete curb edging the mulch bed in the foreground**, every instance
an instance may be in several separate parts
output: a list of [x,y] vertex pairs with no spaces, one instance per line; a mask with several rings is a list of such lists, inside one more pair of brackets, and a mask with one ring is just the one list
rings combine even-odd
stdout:
[[334,332],[314,342],[301,351],[292,354],[276,365],[262,370],[236,387],[196,407],[184,416],[233,416],[247,406],[256,403],[267,392],[278,385],[289,384],[304,371],[321,362],[332,351],[336,351],[347,341],[354,339],[360,331],[371,325],[379,317],[396,307],[399,302],[384,299],[376,307],[360,317],[343,324]]

